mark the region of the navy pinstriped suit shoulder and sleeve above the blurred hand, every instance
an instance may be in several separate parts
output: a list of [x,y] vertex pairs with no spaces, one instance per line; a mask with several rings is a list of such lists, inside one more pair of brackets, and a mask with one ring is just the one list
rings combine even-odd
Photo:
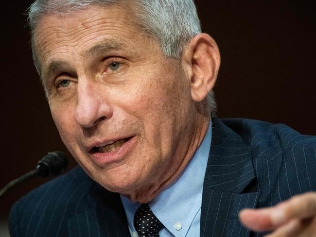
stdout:
[[284,124],[224,119],[251,152],[260,191],[259,206],[316,191],[316,136],[301,135]]

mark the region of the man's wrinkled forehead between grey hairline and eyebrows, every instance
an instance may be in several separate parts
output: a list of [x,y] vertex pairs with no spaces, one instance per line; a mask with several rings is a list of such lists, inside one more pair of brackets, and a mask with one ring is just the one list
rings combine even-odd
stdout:
[[130,45],[132,41],[128,39],[139,31],[133,14],[124,6],[89,6],[64,15],[47,13],[34,30],[33,50],[42,68],[53,55],[87,50],[91,43],[109,35],[115,35],[118,44]]

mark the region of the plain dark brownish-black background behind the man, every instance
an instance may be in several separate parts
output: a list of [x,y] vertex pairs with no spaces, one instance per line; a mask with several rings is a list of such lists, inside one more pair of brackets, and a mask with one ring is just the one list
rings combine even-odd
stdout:
[[[1,6],[0,187],[34,169],[47,152],[66,151],[33,67],[24,14],[30,3],[3,1]],[[218,116],[285,123],[316,135],[313,1],[196,4],[204,32],[222,55],[215,87]],[[18,197],[45,181],[38,178],[9,192],[0,200],[0,218]]]

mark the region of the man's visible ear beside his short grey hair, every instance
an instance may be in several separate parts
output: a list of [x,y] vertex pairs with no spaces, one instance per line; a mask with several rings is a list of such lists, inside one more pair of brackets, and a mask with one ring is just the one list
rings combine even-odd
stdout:
[[193,101],[203,101],[215,85],[221,63],[216,42],[208,34],[196,35],[186,46],[182,63],[190,80]]

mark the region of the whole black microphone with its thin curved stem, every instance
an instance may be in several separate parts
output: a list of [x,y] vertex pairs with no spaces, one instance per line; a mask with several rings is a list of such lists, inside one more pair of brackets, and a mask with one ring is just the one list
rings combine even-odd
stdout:
[[37,163],[35,169],[30,172],[18,177],[11,181],[0,190],[0,199],[3,195],[12,187],[36,176],[49,177],[58,175],[64,171],[68,166],[67,156],[63,152],[48,152],[42,159]]

